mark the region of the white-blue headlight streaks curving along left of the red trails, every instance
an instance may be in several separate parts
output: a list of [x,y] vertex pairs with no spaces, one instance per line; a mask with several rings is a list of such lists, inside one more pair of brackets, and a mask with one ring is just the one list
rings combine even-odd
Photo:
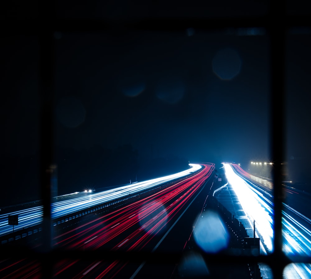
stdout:
[[[96,206],[101,203],[125,198],[128,195],[147,190],[174,179],[182,178],[202,168],[202,165],[198,164],[189,164],[189,166],[189,169],[176,174],[136,182],[103,192],[89,194],[84,197],[73,198],[67,201],[52,203],[52,219]],[[15,230],[35,226],[43,221],[43,206],[0,215],[0,235],[5,235],[13,231],[13,227],[8,225],[8,215],[18,215],[18,225],[14,226]]]

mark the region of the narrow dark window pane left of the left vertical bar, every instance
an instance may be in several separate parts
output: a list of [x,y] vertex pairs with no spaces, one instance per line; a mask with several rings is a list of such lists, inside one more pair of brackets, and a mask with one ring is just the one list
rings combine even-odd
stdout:
[[[24,217],[30,207],[40,208],[38,40],[32,35],[2,34],[1,49],[1,236],[12,238],[28,230]],[[8,214],[12,215],[10,220]],[[33,216],[39,225],[42,218]],[[18,233],[20,232],[20,233]]]

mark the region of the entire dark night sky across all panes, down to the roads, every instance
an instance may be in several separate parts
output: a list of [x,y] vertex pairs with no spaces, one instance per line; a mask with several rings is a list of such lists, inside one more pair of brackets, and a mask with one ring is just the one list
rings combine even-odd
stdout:
[[[168,17],[173,11],[177,17],[248,11],[256,16],[269,8],[240,1],[225,8],[214,3],[204,13],[194,4],[160,9],[151,1],[139,9],[56,3],[61,17],[109,20]],[[289,7],[297,12],[293,3]],[[290,175],[303,181],[309,179],[304,162],[311,156],[310,36],[306,28],[290,30],[286,41],[286,156]],[[14,202],[38,193],[39,43],[31,32],[5,32],[3,39],[1,176],[6,190],[0,201],[5,203],[12,189],[21,189]],[[271,158],[269,38],[263,28],[55,30],[54,42],[58,193],[147,179],[182,170],[189,161],[235,161],[247,169],[251,160]]]

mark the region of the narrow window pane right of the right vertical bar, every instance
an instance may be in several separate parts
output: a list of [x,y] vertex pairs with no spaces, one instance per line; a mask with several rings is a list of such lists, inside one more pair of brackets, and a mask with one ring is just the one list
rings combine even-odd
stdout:
[[[309,142],[311,130],[307,124],[310,119],[309,101],[310,85],[309,63],[311,56],[310,30],[306,28],[290,29],[286,44],[286,162],[284,167],[285,207],[283,227],[284,250],[290,256],[310,256],[309,238],[309,197],[310,172],[308,160],[310,157]],[[297,213],[298,212],[298,213]],[[296,224],[288,220],[291,216]],[[288,235],[295,232],[295,247],[288,247]]]

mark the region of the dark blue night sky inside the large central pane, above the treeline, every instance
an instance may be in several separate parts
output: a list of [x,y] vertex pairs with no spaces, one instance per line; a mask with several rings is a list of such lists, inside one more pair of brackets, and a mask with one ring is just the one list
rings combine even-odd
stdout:
[[189,160],[267,156],[266,36],[193,32],[61,35],[58,121],[70,125],[61,114],[70,105],[64,98],[79,102],[75,113],[83,115],[75,128],[60,127],[66,137],[57,142],[129,142],[141,152],[153,146],[160,156]]

